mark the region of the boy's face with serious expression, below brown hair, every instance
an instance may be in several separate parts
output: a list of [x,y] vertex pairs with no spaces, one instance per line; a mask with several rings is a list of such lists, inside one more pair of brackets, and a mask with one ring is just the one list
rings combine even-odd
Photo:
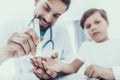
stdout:
[[89,36],[96,42],[108,39],[107,27],[108,22],[101,17],[99,12],[95,12],[89,16],[84,23],[84,28],[87,30]]

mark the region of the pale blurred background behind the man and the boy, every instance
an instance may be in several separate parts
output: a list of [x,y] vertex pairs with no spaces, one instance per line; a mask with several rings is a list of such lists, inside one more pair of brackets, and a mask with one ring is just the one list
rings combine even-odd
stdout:
[[[120,39],[119,5],[119,0],[72,0],[69,10],[61,16],[56,25],[65,23],[64,26],[66,26],[71,36],[71,43],[73,44],[74,52],[76,52],[80,44],[79,41],[84,40],[81,39],[83,38],[81,35],[84,34],[80,33],[79,27],[79,20],[83,12],[89,8],[102,8],[108,14],[110,22],[109,36]],[[28,20],[32,17],[33,11],[34,0],[0,0],[0,30],[11,21]]]

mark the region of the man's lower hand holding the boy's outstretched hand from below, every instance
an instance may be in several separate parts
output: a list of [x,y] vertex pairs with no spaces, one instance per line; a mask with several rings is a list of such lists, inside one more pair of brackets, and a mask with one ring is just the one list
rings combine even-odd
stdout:
[[45,69],[44,65],[42,64],[42,61],[48,61],[51,59],[56,59],[58,57],[57,53],[54,53],[51,57],[34,57],[31,60],[31,63],[35,67],[33,69],[34,74],[41,79],[50,79],[55,78],[57,76],[57,73],[53,70]]

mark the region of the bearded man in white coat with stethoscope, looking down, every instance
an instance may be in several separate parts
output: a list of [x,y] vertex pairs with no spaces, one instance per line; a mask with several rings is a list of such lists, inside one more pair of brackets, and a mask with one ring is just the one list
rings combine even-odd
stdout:
[[[34,37],[35,32],[29,29],[24,33],[14,33],[9,38],[9,42],[17,43],[22,46],[25,54],[37,53],[39,56],[51,56],[53,52],[59,54],[59,59],[63,62],[72,62],[74,54],[67,31],[62,27],[52,27],[57,19],[68,10],[70,0],[35,0],[34,17],[30,22],[30,26],[34,26],[34,18],[39,19],[40,25],[40,43]],[[20,73],[32,73],[33,66],[28,61],[30,55],[15,59],[16,69]],[[41,71],[40,71],[41,72]],[[40,73],[38,71],[38,73]],[[44,72],[44,71],[43,71]],[[39,76],[37,76],[39,77]]]

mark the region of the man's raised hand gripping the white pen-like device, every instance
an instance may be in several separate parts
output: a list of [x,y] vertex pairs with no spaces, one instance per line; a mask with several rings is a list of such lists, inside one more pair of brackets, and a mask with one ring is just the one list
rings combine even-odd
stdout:
[[28,55],[30,52],[34,55],[36,52],[39,37],[33,29],[28,29],[24,33],[13,33],[8,39],[7,45],[14,49],[13,57]]

